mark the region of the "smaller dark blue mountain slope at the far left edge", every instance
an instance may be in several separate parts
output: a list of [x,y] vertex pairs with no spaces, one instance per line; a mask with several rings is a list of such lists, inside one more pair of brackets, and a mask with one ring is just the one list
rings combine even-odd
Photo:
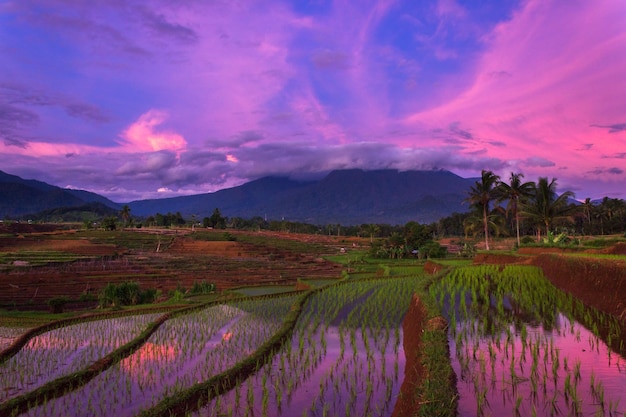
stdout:
[[101,195],[68,190],[37,180],[25,180],[0,171],[0,219],[38,213],[58,207],[101,203],[119,210],[120,205]]

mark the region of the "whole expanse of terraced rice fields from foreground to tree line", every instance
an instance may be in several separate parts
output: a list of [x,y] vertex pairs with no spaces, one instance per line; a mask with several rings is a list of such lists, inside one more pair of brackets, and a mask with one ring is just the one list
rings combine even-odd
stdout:
[[[80,252],[63,236],[59,247]],[[92,264],[149,273],[145,283],[169,282],[176,271],[205,280],[212,266],[231,279],[178,304],[95,315],[0,311],[0,417],[626,416],[625,325],[610,314],[615,305],[604,308],[612,298],[583,302],[553,275],[557,261],[576,269],[613,262],[594,270],[616,283],[621,258],[552,257],[544,269],[511,255],[502,264],[425,264],[342,256],[335,242],[326,247],[338,267],[328,267],[320,244],[300,253],[305,243],[276,236],[266,247],[252,246],[258,236],[220,245],[120,235],[122,246],[111,236],[88,239],[89,250],[68,261],[42,239],[54,265],[32,253],[35,240],[19,241],[23,253],[5,245],[7,262],[28,255],[33,265],[7,263],[0,284],[55,268],[71,279]],[[163,252],[152,256],[154,244]],[[99,245],[124,255],[93,257]],[[271,280],[245,276],[261,264]],[[315,273],[297,273],[307,266]],[[95,271],[83,275],[103,284]]]

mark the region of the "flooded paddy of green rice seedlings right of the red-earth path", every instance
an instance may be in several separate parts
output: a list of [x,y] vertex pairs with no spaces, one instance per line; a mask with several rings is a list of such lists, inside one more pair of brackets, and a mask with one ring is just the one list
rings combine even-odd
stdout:
[[[557,291],[538,269],[481,265],[457,268],[431,287],[450,323],[452,362],[458,363],[459,414],[622,414],[617,406],[626,376],[612,364],[614,320]],[[464,303],[454,300],[471,300]],[[465,307],[463,307],[465,306]],[[465,308],[465,310],[463,310]],[[579,318],[586,327],[576,319]],[[603,330],[608,329],[608,330]],[[484,353],[483,353],[484,352]],[[526,355],[528,352],[528,356]],[[485,365],[488,358],[491,366]],[[528,361],[529,366],[525,366]],[[594,370],[601,370],[602,380]],[[471,383],[469,383],[471,381]],[[579,390],[587,381],[589,393]],[[497,387],[497,388],[492,388]],[[507,400],[523,395],[530,404]]]

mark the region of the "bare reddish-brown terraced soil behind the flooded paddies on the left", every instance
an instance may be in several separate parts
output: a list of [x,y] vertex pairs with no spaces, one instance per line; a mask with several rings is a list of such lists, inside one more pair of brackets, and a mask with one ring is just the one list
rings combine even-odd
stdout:
[[[318,255],[269,251],[263,246],[238,242],[196,241],[179,235],[169,248],[156,253],[154,248],[128,250],[72,239],[71,232],[60,233],[64,234],[63,239],[44,239],[36,233],[0,238],[0,251],[58,251],[91,258],[49,266],[5,267],[0,270],[0,307],[47,308],[46,302],[51,298],[76,300],[84,294],[97,296],[106,284],[125,281],[167,294],[202,280],[215,283],[218,291],[249,284],[295,286],[302,278],[339,277],[342,269]],[[329,248],[329,253],[335,253],[334,247]]]

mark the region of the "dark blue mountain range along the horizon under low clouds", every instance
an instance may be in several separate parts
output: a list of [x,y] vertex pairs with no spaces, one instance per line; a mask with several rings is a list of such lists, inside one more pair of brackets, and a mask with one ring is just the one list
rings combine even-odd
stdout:
[[468,211],[463,200],[475,181],[445,170],[347,169],[332,171],[320,180],[270,176],[214,193],[117,203],[89,191],[0,171],[0,218],[97,203],[118,211],[127,204],[131,214],[139,217],[178,212],[185,218],[202,219],[218,208],[226,217],[259,216],[319,225],[431,223]]

